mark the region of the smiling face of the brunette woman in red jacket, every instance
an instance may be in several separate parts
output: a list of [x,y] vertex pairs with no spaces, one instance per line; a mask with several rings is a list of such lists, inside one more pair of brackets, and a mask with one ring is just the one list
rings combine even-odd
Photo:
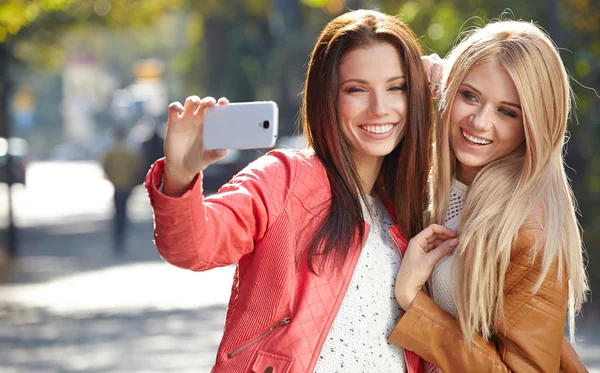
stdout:
[[385,42],[350,50],[339,74],[338,118],[354,161],[380,161],[400,143],[407,116],[398,51]]

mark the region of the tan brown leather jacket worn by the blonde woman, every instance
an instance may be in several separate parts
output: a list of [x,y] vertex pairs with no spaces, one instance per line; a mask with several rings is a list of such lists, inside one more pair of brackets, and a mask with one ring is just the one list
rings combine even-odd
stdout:
[[416,352],[444,373],[454,372],[587,372],[564,339],[567,279],[550,267],[536,294],[532,289],[541,270],[541,255],[533,260],[532,246],[540,228],[521,228],[512,248],[504,285],[504,319],[496,336],[477,335],[472,348],[463,341],[458,320],[425,293],[419,292],[389,336]]

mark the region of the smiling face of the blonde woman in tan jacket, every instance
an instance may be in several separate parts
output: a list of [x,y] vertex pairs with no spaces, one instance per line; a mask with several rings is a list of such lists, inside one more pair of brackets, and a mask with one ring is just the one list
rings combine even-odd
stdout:
[[523,114],[512,79],[497,61],[476,65],[461,83],[450,113],[456,177],[470,184],[479,170],[523,141]]

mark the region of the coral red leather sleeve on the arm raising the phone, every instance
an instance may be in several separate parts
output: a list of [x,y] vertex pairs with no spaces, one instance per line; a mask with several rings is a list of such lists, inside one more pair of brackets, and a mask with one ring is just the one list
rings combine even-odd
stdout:
[[254,249],[283,211],[291,168],[285,155],[265,155],[215,195],[203,198],[200,173],[182,196],[169,197],[157,189],[164,159],[157,161],[145,185],[154,209],[159,253],[167,262],[194,271],[237,262]]

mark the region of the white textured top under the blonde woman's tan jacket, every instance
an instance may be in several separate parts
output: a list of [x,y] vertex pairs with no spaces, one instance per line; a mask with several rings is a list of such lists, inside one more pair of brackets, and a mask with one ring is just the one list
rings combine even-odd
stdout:
[[[462,212],[467,187],[456,179],[452,179],[452,187],[450,188],[450,203],[446,211],[444,225],[453,231],[458,231],[460,228],[460,217]],[[432,292],[433,300],[446,312],[458,317],[456,304],[452,297],[452,287],[456,281],[456,276],[453,272],[454,256],[443,257],[433,268],[429,284]],[[441,373],[441,370],[433,364],[425,363],[425,372]]]

